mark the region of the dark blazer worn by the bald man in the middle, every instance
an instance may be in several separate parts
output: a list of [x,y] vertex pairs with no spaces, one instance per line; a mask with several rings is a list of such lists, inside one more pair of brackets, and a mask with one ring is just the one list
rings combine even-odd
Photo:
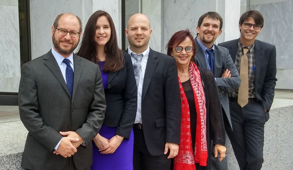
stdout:
[[151,155],[163,155],[166,142],[180,143],[181,100],[174,58],[149,49],[141,107]]

